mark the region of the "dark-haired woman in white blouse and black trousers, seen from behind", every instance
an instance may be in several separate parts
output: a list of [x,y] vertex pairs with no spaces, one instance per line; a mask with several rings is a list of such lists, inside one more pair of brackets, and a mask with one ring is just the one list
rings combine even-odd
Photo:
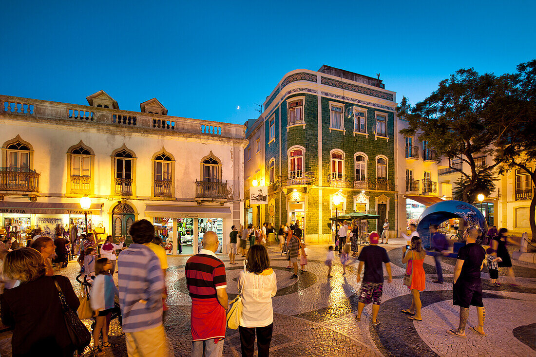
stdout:
[[242,356],[253,356],[256,334],[258,356],[267,357],[272,340],[272,297],[277,293],[276,273],[270,267],[264,246],[257,244],[251,247],[246,261],[245,269],[238,277],[238,291],[242,295],[239,325]]

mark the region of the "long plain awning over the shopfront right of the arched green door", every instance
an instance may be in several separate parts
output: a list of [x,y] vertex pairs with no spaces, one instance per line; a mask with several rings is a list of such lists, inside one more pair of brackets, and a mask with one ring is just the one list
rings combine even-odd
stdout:
[[147,217],[165,218],[231,218],[227,206],[145,205]]

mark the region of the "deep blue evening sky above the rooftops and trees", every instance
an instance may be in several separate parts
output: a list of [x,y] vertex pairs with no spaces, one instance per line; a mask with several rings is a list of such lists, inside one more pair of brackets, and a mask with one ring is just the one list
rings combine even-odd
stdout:
[[[533,1],[4,2],[0,94],[244,123],[285,73],[323,64],[414,104],[459,68],[536,58]],[[532,25],[531,25],[532,24]],[[240,109],[237,109],[240,106]]]

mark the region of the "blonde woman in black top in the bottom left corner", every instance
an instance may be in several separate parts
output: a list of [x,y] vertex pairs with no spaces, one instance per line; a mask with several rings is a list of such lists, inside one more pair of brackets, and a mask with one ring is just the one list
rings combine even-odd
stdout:
[[[20,285],[0,295],[4,325],[13,328],[13,357],[42,356],[72,357],[71,344],[65,326],[61,303],[54,280],[72,309],[78,309],[78,298],[69,279],[45,276],[41,254],[32,248],[11,251],[4,260],[4,274],[19,280]],[[28,303],[29,302],[29,303]]]

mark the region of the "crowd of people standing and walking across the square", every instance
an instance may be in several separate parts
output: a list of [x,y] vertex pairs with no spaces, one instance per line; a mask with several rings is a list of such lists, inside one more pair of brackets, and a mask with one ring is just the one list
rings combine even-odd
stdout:
[[[389,223],[385,220],[383,228],[388,227]],[[410,306],[400,313],[412,321],[422,321],[420,293],[426,289],[423,269],[426,251],[415,225],[411,224],[409,228],[410,234],[403,234],[409,244],[402,249],[402,263],[406,264],[404,285],[411,293],[412,300]],[[479,320],[478,326],[473,328],[474,332],[486,335],[483,329],[485,309],[480,277],[483,265],[488,265],[490,284],[500,285],[497,281],[500,266],[507,267],[509,276],[515,279],[507,250],[507,244],[515,242],[507,237],[505,228],[496,233],[493,228],[490,229],[493,236],[484,242],[489,244],[487,250],[477,243],[478,230],[466,229],[466,244],[457,254],[452,295],[453,304],[460,307],[460,322],[457,329],[447,332],[460,338],[466,337],[470,306],[477,308]],[[448,254],[449,244],[436,225],[431,225],[429,230],[432,248],[429,255],[434,257],[437,269],[434,282],[443,284],[441,259]],[[327,251],[327,277],[331,278],[336,250],[339,251],[343,276],[347,273],[348,265],[359,262],[356,282],[360,283],[360,294],[355,319],[361,321],[364,307],[372,303],[371,324],[376,326],[380,323],[378,312],[383,294],[383,266],[388,274],[388,282],[392,282],[389,255],[379,245],[387,237],[373,232],[368,236],[369,244],[358,250],[355,248],[357,243],[354,243],[358,231],[355,222],[351,225],[343,223],[337,232],[338,244],[330,246]],[[264,224],[263,227],[248,225],[246,228],[242,225],[233,226],[229,234],[229,263],[239,264],[236,259],[239,254],[245,258],[237,279],[242,306],[238,329],[243,356],[253,355],[255,339],[259,357],[269,355],[273,332],[272,298],[277,293],[277,278],[270,267],[266,246],[267,242],[275,241],[276,233],[280,251],[286,252],[287,269],[293,269],[290,278],[298,279],[298,265],[301,265],[302,273],[307,266],[307,251],[299,221],[281,225],[277,232],[270,224]],[[80,243],[81,252],[77,261],[83,280],[91,285],[90,309],[95,321],[92,354],[100,356],[106,348],[116,346],[108,336],[110,318],[116,314],[121,316],[129,356],[166,355],[168,346],[163,329],[167,310],[166,251],[162,241],[155,236],[154,226],[145,219],[134,222],[129,234],[133,243],[128,249],[124,245],[124,237],[115,243],[108,236],[103,244],[99,244],[90,233],[83,235]],[[80,355],[84,351],[84,348],[73,345],[69,337],[62,301],[58,297],[58,291],[61,290],[64,302],[72,310],[79,310],[82,300],[77,298],[69,279],[54,274],[55,268],[61,270],[64,267],[63,259],[68,259],[66,243],[62,240],[63,237],[52,240],[46,236],[35,236],[31,247],[18,249],[7,248],[0,243],[0,315],[3,324],[12,328],[14,356],[40,354],[43,341],[47,341],[47,347],[58,356]],[[229,299],[225,264],[215,254],[218,247],[218,235],[212,231],[206,232],[202,249],[191,256],[184,267],[192,301],[192,356],[219,357],[222,354]],[[114,273],[118,277],[117,286]],[[116,297],[119,303],[116,303]],[[28,301],[33,303],[29,304]],[[51,326],[54,328],[51,329]]]

